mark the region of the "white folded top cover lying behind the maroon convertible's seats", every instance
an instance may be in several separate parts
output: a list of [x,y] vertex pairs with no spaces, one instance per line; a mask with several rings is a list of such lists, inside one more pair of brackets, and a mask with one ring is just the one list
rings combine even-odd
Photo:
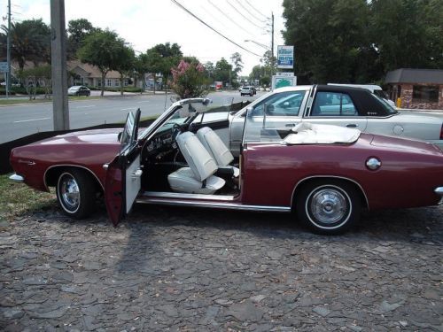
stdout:
[[331,144],[354,143],[360,137],[359,129],[332,125],[316,125],[300,122],[292,128],[294,134],[284,137],[284,143],[293,144]]

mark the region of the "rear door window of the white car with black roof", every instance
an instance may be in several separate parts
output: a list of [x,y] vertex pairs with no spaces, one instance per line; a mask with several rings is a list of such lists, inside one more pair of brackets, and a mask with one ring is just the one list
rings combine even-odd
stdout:
[[349,117],[358,116],[357,109],[348,95],[339,92],[317,92],[312,116]]

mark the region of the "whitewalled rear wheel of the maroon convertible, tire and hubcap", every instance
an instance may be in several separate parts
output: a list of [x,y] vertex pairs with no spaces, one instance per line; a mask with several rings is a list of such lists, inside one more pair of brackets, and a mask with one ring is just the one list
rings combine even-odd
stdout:
[[346,181],[312,181],[303,186],[296,200],[299,220],[316,233],[344,233],[360,218],[361,197]]

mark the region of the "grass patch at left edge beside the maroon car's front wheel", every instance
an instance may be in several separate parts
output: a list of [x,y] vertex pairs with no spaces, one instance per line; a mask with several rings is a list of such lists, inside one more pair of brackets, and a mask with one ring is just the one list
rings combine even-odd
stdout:
[[9,180],[8,175],[0,175],[0,221],[13,220],[57,204],[53,193],[36,191],[24,183]]

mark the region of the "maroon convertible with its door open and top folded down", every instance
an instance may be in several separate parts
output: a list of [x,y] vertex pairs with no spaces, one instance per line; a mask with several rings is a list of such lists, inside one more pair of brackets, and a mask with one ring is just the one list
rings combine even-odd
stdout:
[[[282,103],[274,112],[299,101]],[[77,219],[94,210],[102,193],[114,225],[139,202],[295,211],[325,234],[344,232],[362,209],[437,205],[443,197],[443,151],[431,144],[349,127],[292,127],[287,117],[279,130],[252,108],[236,160],[204,121],[208,104],[176,102],[144,130],[138,110],[122,131],[80,131],[15,148],[11,179],[55,187],[62,211]]]

